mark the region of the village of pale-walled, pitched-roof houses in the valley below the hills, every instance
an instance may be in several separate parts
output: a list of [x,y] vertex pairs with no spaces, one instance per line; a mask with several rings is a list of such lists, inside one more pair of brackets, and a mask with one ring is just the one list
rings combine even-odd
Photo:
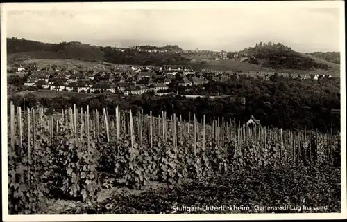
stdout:
[[[56,91],[74,91],[81,93],[117,93],[139,95],[149,91],[165,93],[170,83],[178,86],[197,86],[208,82],[226,82],[237,80],[242,76],[258,77],[269,80],[271,76],[289,77],[291,79],[328,79],[331,75],[299,75],[296,73],[275,73],[259,71],[194,71],[187,65],[153,66],[103,66],[103,67],[59,67],[51,65],[39,68],[31,67],[25,86]],[[28,73],[28,67],[19,66],[16,73]],[[178,77],[179,76],[179,77]],[[176,80],[177,78],[177,80]]]

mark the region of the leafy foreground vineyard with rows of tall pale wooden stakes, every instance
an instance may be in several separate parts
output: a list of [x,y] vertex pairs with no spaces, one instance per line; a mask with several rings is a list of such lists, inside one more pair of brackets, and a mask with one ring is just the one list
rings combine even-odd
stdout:
[[[115,115],[76,105],[45,115],[43,107],[22,111],[12,102],[8,118],[9,214],[42,213],[47,196],[78,203],[62,214],[172,213],[174,205],[232,199],[341,211],[341,144],[331,131],[269,129],[223,117],[206,124],[205,116],[185,121],[119,107]],[[166,187],[148,191],[153,181]],[[109,187],[144,192],[98,201]]]

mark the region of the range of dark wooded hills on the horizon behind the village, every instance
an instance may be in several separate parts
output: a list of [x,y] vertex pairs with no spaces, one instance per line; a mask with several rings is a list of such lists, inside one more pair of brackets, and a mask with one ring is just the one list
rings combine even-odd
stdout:
[[[26,39],[7,39],[8,62],[22,62],[28,59],[76,59],[90,62],[109,62],[125,65],[154,65],[163,64],[190,64],[194,70],[202,68],[214,70],[239,71],[283,71],[296,73],[322,74],[329,73],[339,77],[340,66],[310,54],[298,53],[282,44],[256,44],[255,47],[246,48],[239,54],[247,59],[244,62],[234,59],[217,60],[214,52],[189,53],[167,52],[150,53],[112,47],[97,47],[80,42],[62,42],[60,44],[46,44]],[[139,46],[148,49],[179,50],[178,46]],[[217,53],[218,54],[218,53]],[[235,53],[233,53],[235,54]],[[230,53],[229,53],[230,55]],[[205,59],[202,59],[205,58]]]

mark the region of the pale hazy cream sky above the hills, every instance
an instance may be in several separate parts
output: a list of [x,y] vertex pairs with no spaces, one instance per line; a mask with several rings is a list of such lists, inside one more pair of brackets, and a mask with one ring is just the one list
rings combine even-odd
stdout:
[[[66,7],[65,7],[66,8]],[[339,51],[339,8],[56,8],[7,11],[7,37],[98,46],[178,44],[183,49],[242,50],[280,42],[303,53]],[[343,30],[341,30],[342,32]]]

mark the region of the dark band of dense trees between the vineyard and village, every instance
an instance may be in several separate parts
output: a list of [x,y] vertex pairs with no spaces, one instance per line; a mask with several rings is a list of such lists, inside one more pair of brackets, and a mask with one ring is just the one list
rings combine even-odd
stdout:
[[[181,89],[181,92],[184,89]],[[273,80],[259,80],[244,78],[228,82],[208,82],[202,86],[192,86],[190,93],[198,95],[232,95],[246,98],[246,104],[231,100],[230,98],[210,100],[209,98],[185,98],[179,95],[154,96],[151,93],[143,95],[96,95],[89,98],[74,96],[58,96],[54,100],[40,98],[33,93],[26,95],[10,95],[8,101],[13,100],[16,106],[35,107],[42,104],[50,112],[76,104],[77,107],[90,106],[90,109],[103,107],[109,109],[110,114],[115,107],[132,109],[134,113],[143,110],[144,113],[152,111],[158,115],[167,111],[168,115],[176,113],[183,119],[189,120],[189,113],[196,114],[197,118],[206,116],[206,121],[213,118],[236,118],[246,122],[251,115],[259,119],[262,125],[280,127],[282,129],[318,129],[339,131],[341,114],[339,80],[290,80],[278,78]]]

